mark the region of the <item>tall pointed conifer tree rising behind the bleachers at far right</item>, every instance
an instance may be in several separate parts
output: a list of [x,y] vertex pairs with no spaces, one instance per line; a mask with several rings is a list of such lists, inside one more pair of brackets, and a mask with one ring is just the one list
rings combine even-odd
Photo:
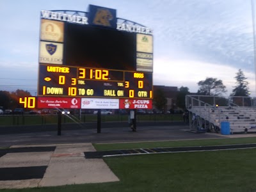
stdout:
[[241,69],[236,73],[236,86],[234,86],[234,90],[232,90],[232,96],[241,96],[247,97],[250,95],[248,88],[248,81],[245,81],[247,78],[244,77],[244,73]]

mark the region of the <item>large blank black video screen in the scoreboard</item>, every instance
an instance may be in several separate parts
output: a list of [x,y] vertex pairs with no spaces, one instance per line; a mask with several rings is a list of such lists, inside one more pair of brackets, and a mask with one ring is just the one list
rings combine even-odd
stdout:
[[135,56],[136,33],[66,23],[65,65],[134,71]]

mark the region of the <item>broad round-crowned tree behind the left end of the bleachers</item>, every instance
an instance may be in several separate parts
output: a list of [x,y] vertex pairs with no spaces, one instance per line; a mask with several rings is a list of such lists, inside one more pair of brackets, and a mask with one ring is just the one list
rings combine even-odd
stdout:
[[200,95],[221,95],[221,93],[227,92],[226,86],[223,85],[221,80],[216,78],[207,77],[204,81],[199,81],[200,86],[198,93]]

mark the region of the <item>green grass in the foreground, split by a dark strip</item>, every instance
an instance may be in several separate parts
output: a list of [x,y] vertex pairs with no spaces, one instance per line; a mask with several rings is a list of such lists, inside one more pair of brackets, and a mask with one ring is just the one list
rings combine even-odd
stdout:
[[[255,143],[255,138],[95,144],[116,148]],[[102,147],[106,145],[105,147]],[[125,147],[126,145],[126,147]],[[104,157],[119,182],[3,191],[256,191],[256,149]]]

